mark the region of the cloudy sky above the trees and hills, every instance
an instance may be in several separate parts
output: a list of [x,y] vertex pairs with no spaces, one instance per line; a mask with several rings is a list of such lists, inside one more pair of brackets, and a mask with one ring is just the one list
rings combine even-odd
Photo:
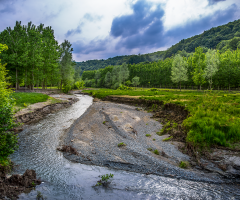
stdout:
[[160,50],[240,18],[240,0],[0,0],[0,32],[52,26],[75,61]]

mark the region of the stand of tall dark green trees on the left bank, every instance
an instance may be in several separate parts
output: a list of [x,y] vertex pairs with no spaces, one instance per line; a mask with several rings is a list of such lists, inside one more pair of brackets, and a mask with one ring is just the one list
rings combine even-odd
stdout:
[[7,27],[0,33],[0,43],[8,46],[0,58],[2,63],[7,63],[9,81],[16,89],[20,86],[62,89],[79,78],[75,74],[70,42],[64,40],[59,45],[51,26],[36,26],[32,22],[24,26],[16,21],[13,29]]

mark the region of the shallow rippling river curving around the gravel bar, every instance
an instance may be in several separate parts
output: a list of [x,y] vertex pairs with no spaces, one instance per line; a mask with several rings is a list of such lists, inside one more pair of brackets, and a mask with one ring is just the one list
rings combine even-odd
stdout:
[[[34,169],[42,184],[19,199],[36,199],[38,191],[52,199],[240,199],[236,186],[215,185],[144,175],[105,167],[72,163],[56,148],[64,130],[92,104],[92,97],[78,95],[71,107],[48,115],[19,133],[19,150],[11,159],[14,173]],[[114,174],[109,187],[92,187],[99,175]],[[238,187],[239,188],[239,187]]]

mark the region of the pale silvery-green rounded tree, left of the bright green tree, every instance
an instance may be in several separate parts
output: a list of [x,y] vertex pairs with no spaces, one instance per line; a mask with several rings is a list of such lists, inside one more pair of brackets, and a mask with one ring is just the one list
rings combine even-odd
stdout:
[[174,83],[180,83],[180,91],[181,91],[181,82],[188,80],[187,74],[187,61],[183,59],[182,56],[177,54],[173,58],[172,62],[172,71],[171,71],[171,80]]

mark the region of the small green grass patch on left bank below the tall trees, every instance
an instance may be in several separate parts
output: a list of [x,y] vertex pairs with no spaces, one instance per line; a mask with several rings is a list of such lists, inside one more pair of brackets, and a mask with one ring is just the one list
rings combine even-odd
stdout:
[[49,99],[49,96],[41,93],[27,93],[27,92],[17,92],[13,93],[12,97],[16,99],[16,106],[26,107],[28,105],[45,102]]

